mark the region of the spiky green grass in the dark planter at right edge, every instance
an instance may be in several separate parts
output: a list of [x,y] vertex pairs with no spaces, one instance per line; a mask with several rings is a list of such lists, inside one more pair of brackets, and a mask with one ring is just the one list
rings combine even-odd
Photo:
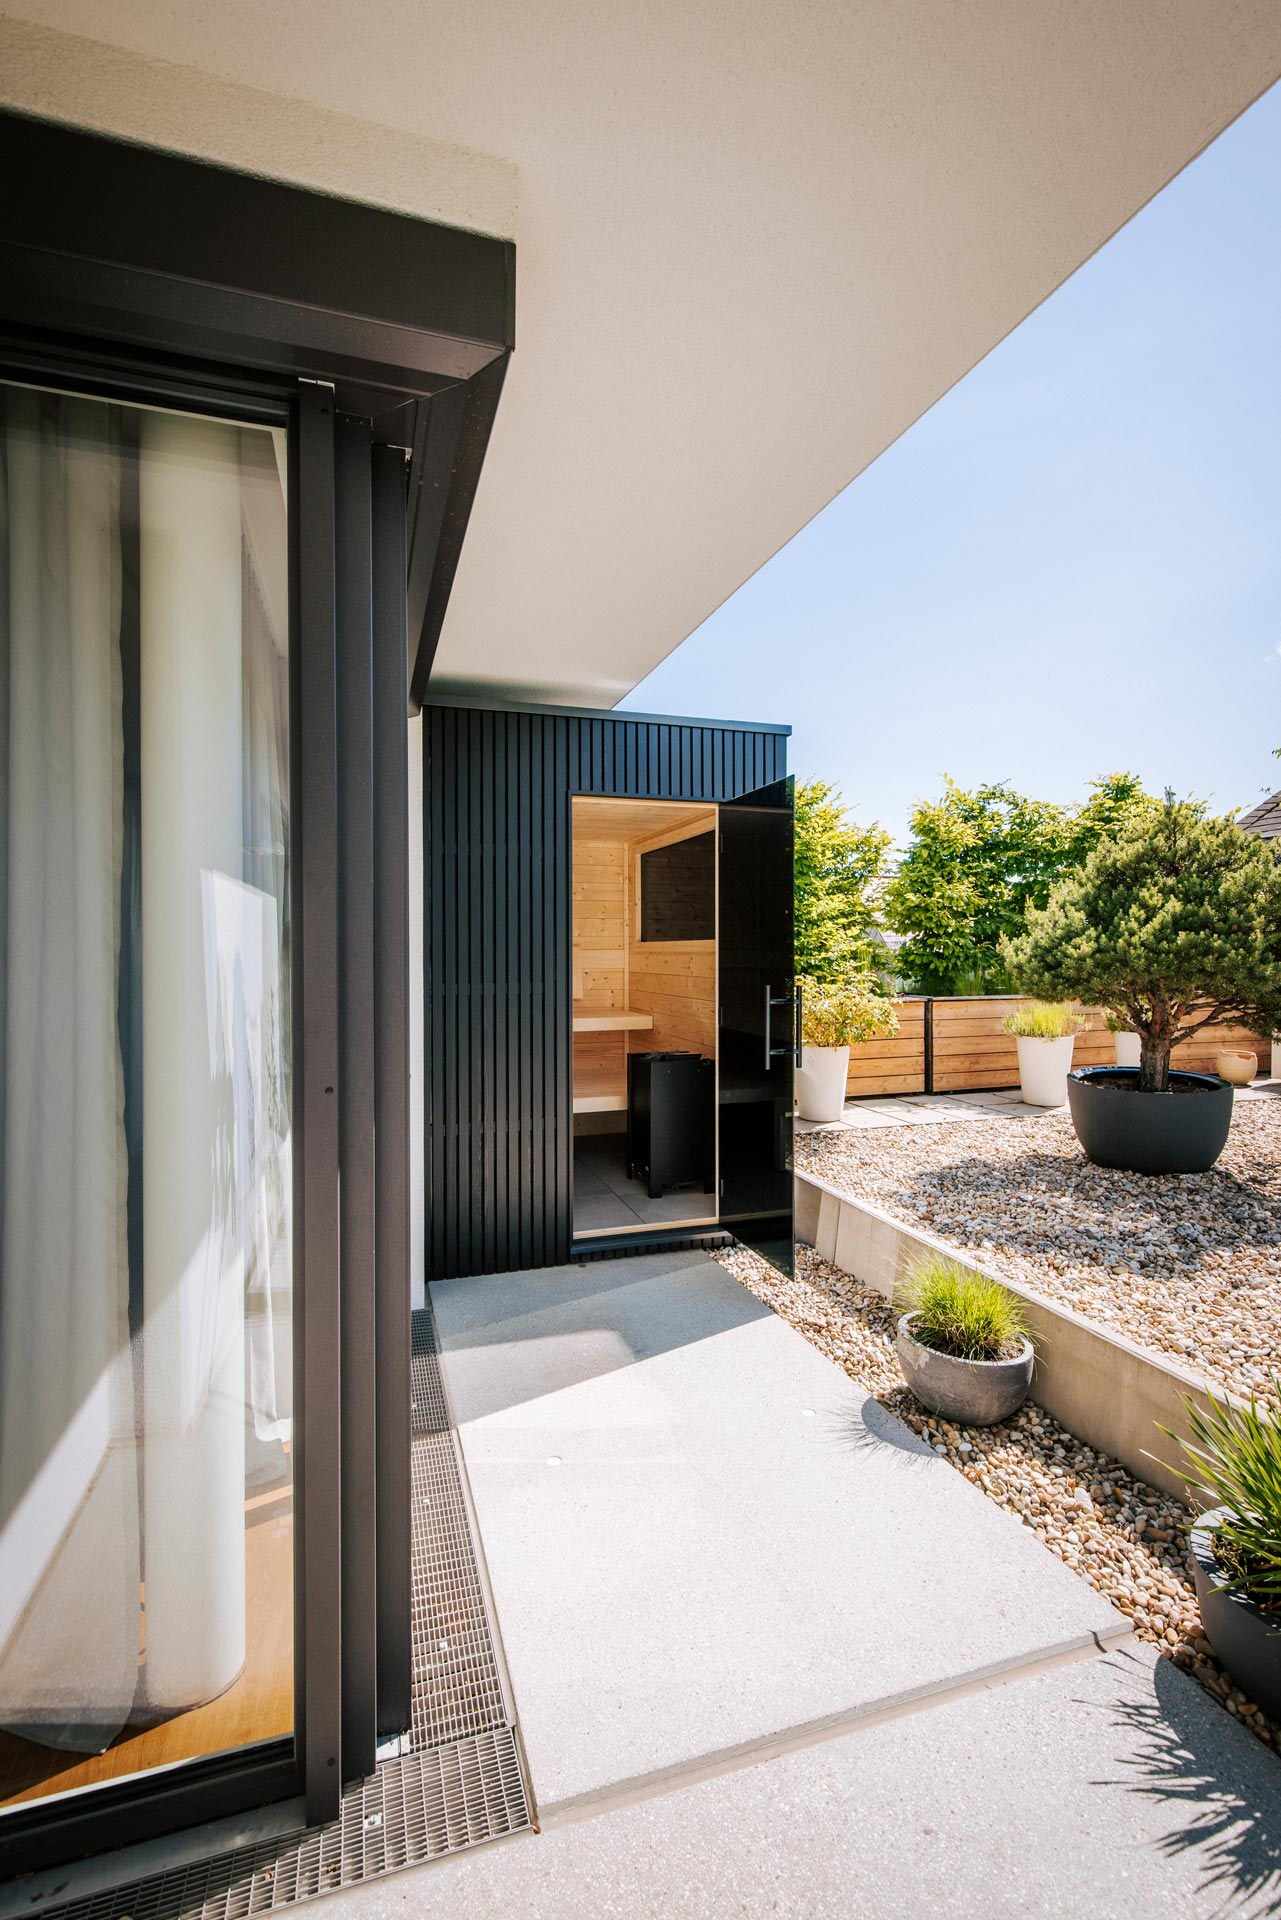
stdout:
[[[1281,1379],[1273,1390],[1281,1402]],[[1223,1588],[1246,1594],[1266,1613],[1281,1613],[1281,1423],[1254,1396],[1248,1407],[1212,1398],[1208,1409],[1195,1400],[1185,1409],[1193,1438],[1179,1446],[1191,1465],[1189,1478],[1210,1505],[1227,1507],[1227,1519],[1214,1530],[1214,1555],[1227,1574]]]

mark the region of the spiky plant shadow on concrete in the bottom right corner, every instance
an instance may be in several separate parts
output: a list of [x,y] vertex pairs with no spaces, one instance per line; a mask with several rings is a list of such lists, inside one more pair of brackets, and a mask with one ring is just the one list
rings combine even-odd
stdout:
[[1168,1859],[1195,1857],[1200,1891],[1220,1901],[1220,1912],[1260,1920],[1281,1912],[1275,1755],[1170,1661],[1152,1668],[1152,1690],[1133,1655],[1110,1653],[1108,1665],[1133,1674],[1135,1695],[1095,1709],[1108,1713],[1127,1751],[1116,1778],[1093,1786],[1122,1786],[1170,1809],[1175,1824],[1158,1847]]

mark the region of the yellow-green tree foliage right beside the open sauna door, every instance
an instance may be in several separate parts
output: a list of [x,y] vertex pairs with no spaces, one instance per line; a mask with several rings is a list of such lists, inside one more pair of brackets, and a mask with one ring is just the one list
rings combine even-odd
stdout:
[[832,781],[797,781],[797,975],[835,985],[872,964],[868,889],[887,856],[889,833],[851,820]]

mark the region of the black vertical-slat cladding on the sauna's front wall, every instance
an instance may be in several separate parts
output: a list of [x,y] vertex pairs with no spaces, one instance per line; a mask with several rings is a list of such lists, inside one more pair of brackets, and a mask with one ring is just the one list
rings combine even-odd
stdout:
[[732,801],[787,730],[423,708],[426,1277],[567,1261],[570,797]]

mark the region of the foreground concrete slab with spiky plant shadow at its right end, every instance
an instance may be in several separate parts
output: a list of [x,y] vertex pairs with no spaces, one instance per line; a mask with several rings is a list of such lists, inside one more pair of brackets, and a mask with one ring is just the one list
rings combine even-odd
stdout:
[[1150,1647],[384,1880],[353,1920],[1264,1920],[1281,1766]]

